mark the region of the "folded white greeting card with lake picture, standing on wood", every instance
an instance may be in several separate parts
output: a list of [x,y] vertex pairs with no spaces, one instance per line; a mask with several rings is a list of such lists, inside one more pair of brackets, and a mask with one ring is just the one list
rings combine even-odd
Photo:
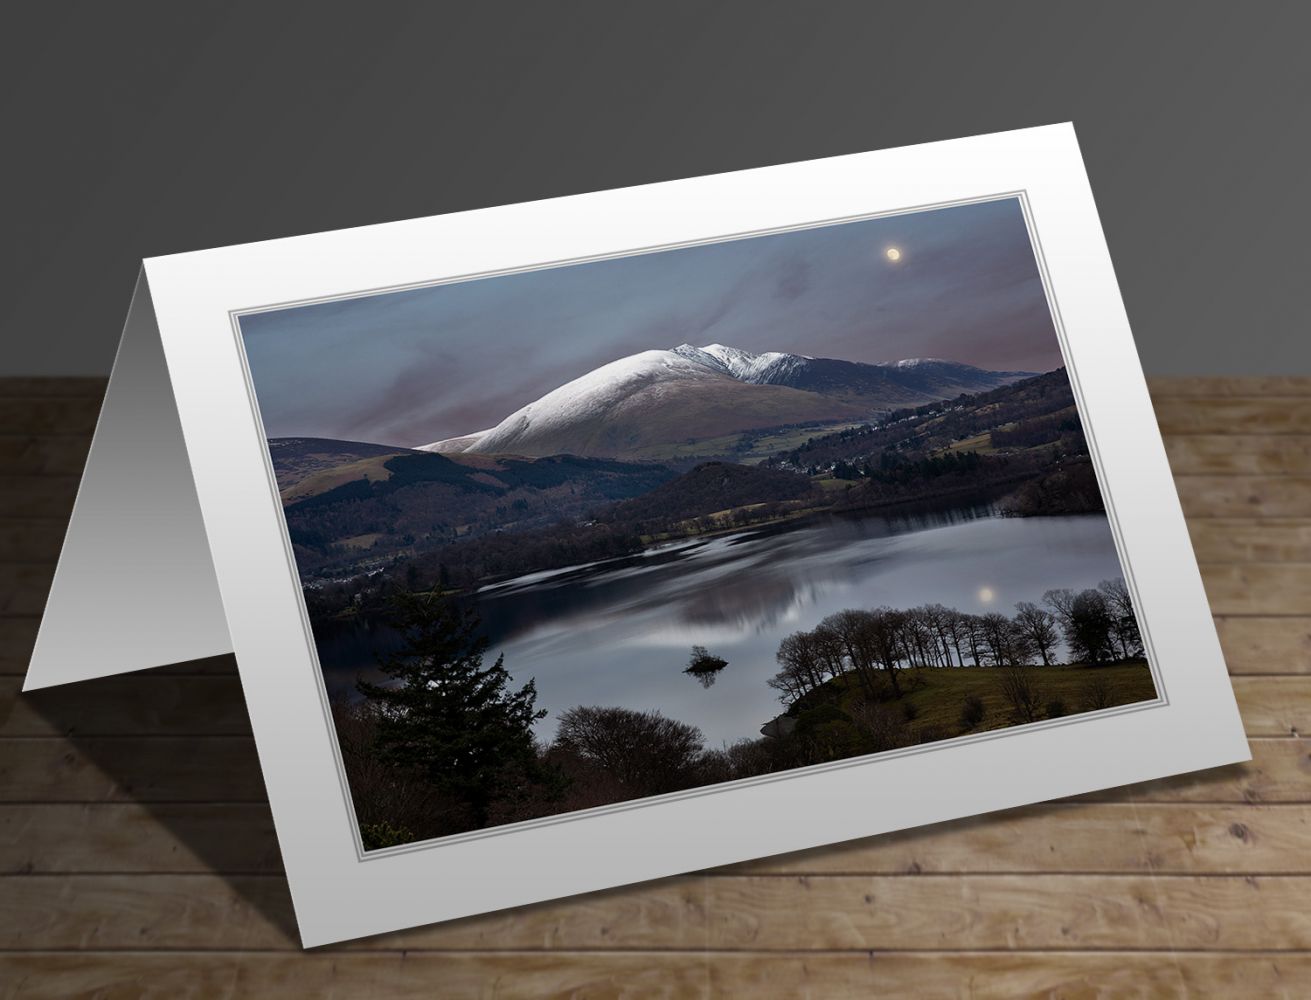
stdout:
[[1070,126],[147,260],[26,688],[228,650],[305,945],[1248,759]]

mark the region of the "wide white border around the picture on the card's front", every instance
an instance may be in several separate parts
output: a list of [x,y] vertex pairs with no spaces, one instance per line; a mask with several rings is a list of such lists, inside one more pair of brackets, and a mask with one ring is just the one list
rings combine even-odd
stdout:
[[[232,315],[1020,190],[1168,704],[361,861]],[[146,273],[307,946],[1248,759],[1068,125],[151,258]]]

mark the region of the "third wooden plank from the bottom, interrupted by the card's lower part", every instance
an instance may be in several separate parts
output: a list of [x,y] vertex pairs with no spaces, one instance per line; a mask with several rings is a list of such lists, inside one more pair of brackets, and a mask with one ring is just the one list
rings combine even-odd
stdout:
[[[1078,802],[742,862],[726,874],[1311,874],[1311,806]],[[0,873],[281,872],[266,805],[0,805]]]

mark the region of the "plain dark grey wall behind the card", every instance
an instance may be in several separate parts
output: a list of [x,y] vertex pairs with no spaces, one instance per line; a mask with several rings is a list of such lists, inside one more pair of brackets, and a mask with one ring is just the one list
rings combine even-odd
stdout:
[[108,372],[142,257],[1061,121],[1143,367],[1311,374],[1311,5],[4,13],[0,374]]

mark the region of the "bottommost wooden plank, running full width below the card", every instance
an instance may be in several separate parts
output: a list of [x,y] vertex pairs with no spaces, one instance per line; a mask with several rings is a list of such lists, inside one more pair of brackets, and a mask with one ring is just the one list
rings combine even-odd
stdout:
[[1302,997],[1311,957],[1281,952],[13,953],[13,1000],[214,996],[1013,1000],[1017,996]]

